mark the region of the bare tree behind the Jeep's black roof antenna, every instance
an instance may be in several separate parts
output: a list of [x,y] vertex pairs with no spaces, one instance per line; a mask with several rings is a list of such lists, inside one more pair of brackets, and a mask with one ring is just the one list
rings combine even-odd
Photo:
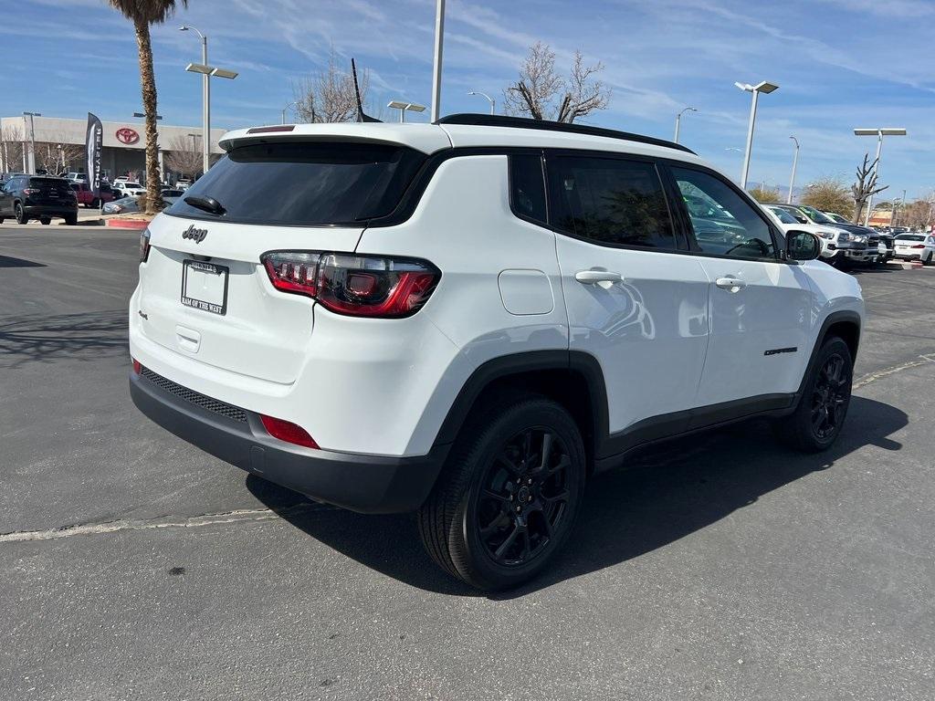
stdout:
[[[367,101],[369,76],[367,71],[357,75],[361,102]],[[295,114],[300,122],[355,122],[357,97],[350,73],[338,67],[338,56],[332,49],[328,66],[293,83]]]

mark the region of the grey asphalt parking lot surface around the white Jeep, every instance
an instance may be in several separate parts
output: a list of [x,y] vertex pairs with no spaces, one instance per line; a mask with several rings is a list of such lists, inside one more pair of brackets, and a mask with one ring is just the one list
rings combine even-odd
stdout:
[[590,486],[549,575],[486,597],[409,516],[138,415],[136,260],[132,232],[0,226],[0,698],[932,698],[935,271],[856,273],[832,451],[752,423],[646,453]]

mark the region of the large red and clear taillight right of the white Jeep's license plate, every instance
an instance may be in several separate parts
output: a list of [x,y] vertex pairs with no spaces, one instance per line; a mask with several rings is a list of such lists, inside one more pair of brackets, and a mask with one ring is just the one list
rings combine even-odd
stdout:
[[266,253],[273,287],[338,314],[398,319],[422,308],[441,278],[427,261],[353,253]]

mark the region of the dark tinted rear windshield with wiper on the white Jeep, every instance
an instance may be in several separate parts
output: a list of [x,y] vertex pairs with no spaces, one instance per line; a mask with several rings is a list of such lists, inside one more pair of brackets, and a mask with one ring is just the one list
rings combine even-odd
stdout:
[[391,213],[425,155],[399,146],[278,142],[231,150],[184,197],[213,197],[214,217],[179,199],[168,214],[240,223],[313,226]]

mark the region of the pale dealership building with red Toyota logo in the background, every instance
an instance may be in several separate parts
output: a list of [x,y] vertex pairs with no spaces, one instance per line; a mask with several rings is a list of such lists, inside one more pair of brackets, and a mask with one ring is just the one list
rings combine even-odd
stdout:
[[[32,122],[32,123],[30,123]],[[101,171],[108,179],[136,174],[142,179],[146,172],[146,129],[142,119],[133,122],[102,122],[104,125],[104,143],[101,151]],[[26,153],[30,143],[35,141],[36,154],[43,150],[55,150],[62,154],[65,171],[84,172],[85,135],[88,121],[69,120],[59,117],[3,117],[0,118],[0,171],[25,171],[28,164]],[[169,177],[171,168],[165,164],[166,154],[172,150],[188,150],[201,153],[201,127],[170,126],[159,124],[159,167],[163,179]],[[32,130],[32,133],[31,133]],[[225,129],[211,130],[210,153],[212,160],[223,150],[218,147],[218,140]],[[61,147],[61,148],[60,148]],[[189,157],[191,160],[191,157]],[[36,159],[39,162],[39,159]],[[200,160],[197,161],[200,163]],[[200,166],[198,170],[200,171]],[[190,175],[190,174],[186,174]]]

